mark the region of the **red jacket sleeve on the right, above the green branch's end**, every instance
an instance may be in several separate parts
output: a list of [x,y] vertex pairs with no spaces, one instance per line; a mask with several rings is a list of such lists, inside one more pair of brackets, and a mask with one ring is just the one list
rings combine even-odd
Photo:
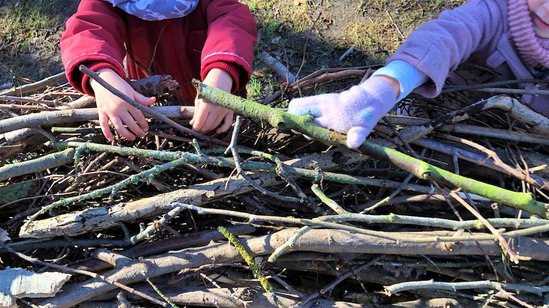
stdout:
[[203,0],[200,5],[208,22],[200,77],[220,68],[233,78],[233,93],[243,93],[253,69],[255,18],[238,0]]

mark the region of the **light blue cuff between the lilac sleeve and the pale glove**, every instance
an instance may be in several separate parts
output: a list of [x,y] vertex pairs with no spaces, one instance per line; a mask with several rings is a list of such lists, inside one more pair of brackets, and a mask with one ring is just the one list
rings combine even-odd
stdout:
[[394,78],[400,85],[400,95],[397,102],[408,96],[415,88],[424,84],[428,78],[415,66],[402,60],[393,60],[375,71],[372,76],[385,75]]

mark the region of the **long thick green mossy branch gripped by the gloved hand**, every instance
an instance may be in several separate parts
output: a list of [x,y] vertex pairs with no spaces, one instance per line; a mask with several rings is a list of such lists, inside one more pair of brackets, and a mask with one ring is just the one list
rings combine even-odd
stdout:
[[[281,109],[271,108],[251,100],[234,96],[230,93],[194,81],[198,95],[208,101],[234,110],[243,116],[269,123],[276,128],[299,131],[316,140],[336,146],[345,146],[345,135],[320,127],[312,122],[311,116],[298,116]],[[498,203],[506,204],[546,218],[549,215],[549,204],[534,200],[532,194],[506,190],[491,184],[463,177],[442,168],[433,166],[419,159],[401,153],[395,149],[380,146],[366,141],[360,151],[380,160],[390,161],[397,167],[406,170],[416,177],[452,184],[465,191],[478,194]]]

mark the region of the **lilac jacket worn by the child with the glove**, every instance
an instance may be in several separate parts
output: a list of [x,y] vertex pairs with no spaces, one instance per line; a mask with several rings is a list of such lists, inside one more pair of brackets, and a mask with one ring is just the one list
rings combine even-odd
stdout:
[[[449,74],[465,62],[489,68],[502,79],[549,79],[548,67],[535,70],[521,58],[510,33],[507,7],[506,0],[470,0],[444,11],[410,34],[388,62],[403,60],[425,73],[430,81],[415,90],[425,97],[440,94]],[[524,95],[521,101],[549,116],[549,96]]]

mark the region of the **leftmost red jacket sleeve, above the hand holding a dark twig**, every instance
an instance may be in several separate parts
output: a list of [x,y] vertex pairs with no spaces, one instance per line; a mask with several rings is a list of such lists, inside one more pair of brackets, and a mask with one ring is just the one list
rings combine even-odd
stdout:
[[82,0],[76,13],[67,20],[61,37],[61,58],[69,83],[80,92],[93,94],[88,77],[78,70],[80,64],[94,71],[109,67],[125,76],[122,64],[126,55],[125,37],[121,11],[106,1]]

